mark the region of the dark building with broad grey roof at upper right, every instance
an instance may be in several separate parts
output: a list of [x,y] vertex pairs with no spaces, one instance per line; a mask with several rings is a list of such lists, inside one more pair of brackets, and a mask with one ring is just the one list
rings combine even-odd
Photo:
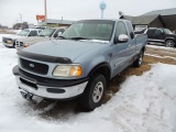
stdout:
[[140,16],[121,15],[130,20],[135,30],[146,28],[166,28],[176,31],[176,8],[151,11]]

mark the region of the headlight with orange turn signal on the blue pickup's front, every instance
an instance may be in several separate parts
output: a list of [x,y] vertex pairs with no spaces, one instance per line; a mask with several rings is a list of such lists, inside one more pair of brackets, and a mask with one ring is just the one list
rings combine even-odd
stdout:
[[81,66],[80,65],[59,65],[54,69],[53,76],[79,77],[81,76]]

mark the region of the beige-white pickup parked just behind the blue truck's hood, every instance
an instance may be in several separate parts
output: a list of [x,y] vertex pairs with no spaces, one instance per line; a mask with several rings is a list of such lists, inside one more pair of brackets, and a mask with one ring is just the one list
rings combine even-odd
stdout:
[[56,38],[66,29],[66,26],[47,28],[43,30],[38,36],[19,38],[15,41],[15,48],[16,51],[21,51],[22,48],[33,45],[35,43],[48,41],[50,38]]

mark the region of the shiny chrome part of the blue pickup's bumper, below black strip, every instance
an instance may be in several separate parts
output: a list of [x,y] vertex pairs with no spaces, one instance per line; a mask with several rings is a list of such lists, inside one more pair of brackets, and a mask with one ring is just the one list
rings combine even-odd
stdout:
[[[47,87],[47,86],[36,85],[37,89],[35,89],[26,84],[23,84],[20,80],[20,76],[15,76],[15,80],[16,80],[18,86],[24,91],[33,94],[35,96],[43,97],[43,98],[50,98],[50,99],[68,99],[68,98],[76,97],[84,92],[86,85],[88,82],[88,81],[85,81],[82,84],[70,86],[70,87]],[[35,82],[32,82],[32,84],[35,84]],[[48,89],[52,89],[53,91]],[[58,92],[58,91],[62,91],[62,92]]]

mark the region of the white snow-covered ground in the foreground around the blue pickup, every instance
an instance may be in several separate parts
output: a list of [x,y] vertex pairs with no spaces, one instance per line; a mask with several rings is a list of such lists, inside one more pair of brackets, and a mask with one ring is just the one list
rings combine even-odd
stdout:
[[58,118],[44,118],[41,113],[56,109],[55,103],[35,109],[21,97],[12,74],[15,53],[0,41],[0,132],[176,132],[175,65],[155,64],[142,76],[129,77],[92,112],[57,108]]

